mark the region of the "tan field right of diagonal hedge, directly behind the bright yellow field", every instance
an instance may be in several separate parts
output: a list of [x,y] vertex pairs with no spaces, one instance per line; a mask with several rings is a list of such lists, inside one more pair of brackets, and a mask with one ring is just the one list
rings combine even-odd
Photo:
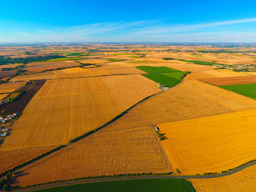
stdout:
[[[181,82],[159,93],[113,123],[113,128],[151,126],[256,108],[256,101],[197,80]],[[156,110],[157,109],[157,110]]]

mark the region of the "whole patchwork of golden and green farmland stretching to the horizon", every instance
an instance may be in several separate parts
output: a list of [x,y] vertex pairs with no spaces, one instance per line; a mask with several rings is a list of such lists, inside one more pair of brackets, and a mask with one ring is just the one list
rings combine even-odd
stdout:
[[[239,46],[0,45],[1,99],[10,98],[0,116],[20,115],[0,120],[1,173],[28,162],[13,172],[18,188],[113,174],[221,173],[252,161],[256,54]],[[192,183],[232,191],[254,185],[255,172],[246,170]]]

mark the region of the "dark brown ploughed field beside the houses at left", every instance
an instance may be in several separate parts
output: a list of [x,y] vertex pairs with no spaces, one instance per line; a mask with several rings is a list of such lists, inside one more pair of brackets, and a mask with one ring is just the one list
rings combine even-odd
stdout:
[[22,96],[10,104],[4,104],[0,107],[0,115],[9,115],[15,112],[23,112],[26,105],[32,99],[35,93],[44,85],[45,80],[37,80],[33,84],[25,85],[19,88],[19,91],[25,91]]

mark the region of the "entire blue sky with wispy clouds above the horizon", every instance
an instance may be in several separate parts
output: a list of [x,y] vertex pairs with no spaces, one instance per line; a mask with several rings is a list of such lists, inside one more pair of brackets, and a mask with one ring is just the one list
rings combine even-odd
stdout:
[[256,1],[1,1],[0,42],[256,42]]

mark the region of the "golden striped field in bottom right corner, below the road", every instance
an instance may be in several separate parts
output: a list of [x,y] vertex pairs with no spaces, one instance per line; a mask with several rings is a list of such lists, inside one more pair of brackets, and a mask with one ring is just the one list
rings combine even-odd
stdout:
[[190,180],[197,192],[251,192],[256,191],[256,166],[214,179]]

